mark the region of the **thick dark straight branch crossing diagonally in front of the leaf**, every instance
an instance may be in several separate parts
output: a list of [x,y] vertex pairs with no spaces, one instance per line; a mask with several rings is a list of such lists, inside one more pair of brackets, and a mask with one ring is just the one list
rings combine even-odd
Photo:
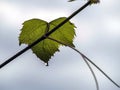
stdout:
[[24,48],[23,50],[19,51],[18,53],[16,53],[15,55],[13,55],[12,57],[10,57],[8,60],[6,60],[5,62],[3,62],[0,65],[0,69],[2,67],[4,67],[5,65],[7,65],[8,63],[10,63],[11,61],[13,61],[15,58],[17,58],[18,56],[22,55],[23,53],[25,53],[27,50],[29,50],[30,48],[32,48],[33,46],[35,46],[36,44],[38,44],[39,42],[43,41],[44,39],[46,39],[45,36],[49,36],[50,34],[52,34],[53,32],[55,32],[58,28],[60,28],[62,25],[64,25],[65,23],[67,23],[70,19],[72,19],[75,15],[77,15],[79,12],[81,12],[83,9],[85,9],[88,5],[91,4],[91,1],[89,0],[87,3],[85,3],[82,7],[80,7],[78,10],[76,10],[75,12],[73,12],[68,18],[66,18],[63,22],[61,22],[60,24],[58,24],[55,28],[53,28],[51,31],[47,32],[46,35],[43,35],[42,37],[40,37],[39,39],[37,39],[35,42],[33,42],[32,44],[28,45],[26,48]]

